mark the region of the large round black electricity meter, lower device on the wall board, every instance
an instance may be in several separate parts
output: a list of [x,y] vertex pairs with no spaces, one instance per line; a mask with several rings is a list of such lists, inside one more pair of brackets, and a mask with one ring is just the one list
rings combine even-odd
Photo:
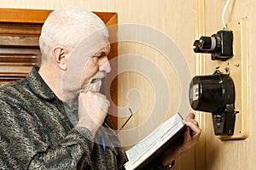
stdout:
[[216,70],[212,75],[193,77],[189,102],[193,110],[212,113],[216,135],[232,135],[236,121],[235,85],[228,74]]

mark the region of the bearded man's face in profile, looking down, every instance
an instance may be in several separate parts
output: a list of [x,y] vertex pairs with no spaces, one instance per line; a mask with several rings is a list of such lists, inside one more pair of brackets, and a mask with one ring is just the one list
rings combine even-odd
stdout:
[[99,91],[100,80],[111,71],[107,57],[109,50],[108,39],[100,34],[84,38],[73,49],[63,75],[64,99],[73,99],[81,91]]

